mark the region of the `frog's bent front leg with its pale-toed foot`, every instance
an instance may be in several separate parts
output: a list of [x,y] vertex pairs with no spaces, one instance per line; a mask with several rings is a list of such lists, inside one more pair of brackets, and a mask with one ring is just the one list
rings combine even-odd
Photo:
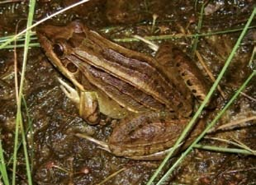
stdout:
[[88,121],[89,124],[97,124],[100,116],[97,93],[93,91],[81,91],[78,93],[77,90],[73,89],[73,87],[69,86],[60,78],[58,78],[58,80],[61,84],[61,90],[76,104],[80,117]]

